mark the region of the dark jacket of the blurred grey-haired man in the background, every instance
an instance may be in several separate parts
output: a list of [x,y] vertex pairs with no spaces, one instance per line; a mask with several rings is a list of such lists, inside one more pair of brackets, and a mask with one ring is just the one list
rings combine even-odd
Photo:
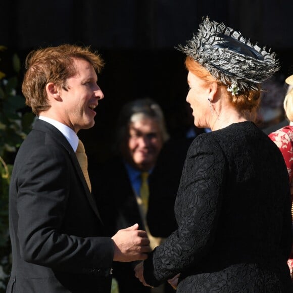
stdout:
[[[167,237],[178,228],[174,203],[183,163],[191,140],[170,140],[165,143],[156,167],[149,177],[150,198],[147,223],[155,237]],[[90,157],[90,155],[89,155]],[[101,207],[100,214],[109,236],[115,231],[138,223],[145,229],[140,216],[135,193],[121,157],[114,157],[98,165],[89,160],[92,193]],[[134,263],[113,264],[113,276],[119,283],[120,293],[150,292],[134,276]],[[167,290],[174,291],[167,284]],[[167,291],[166,291],[167,292]]]

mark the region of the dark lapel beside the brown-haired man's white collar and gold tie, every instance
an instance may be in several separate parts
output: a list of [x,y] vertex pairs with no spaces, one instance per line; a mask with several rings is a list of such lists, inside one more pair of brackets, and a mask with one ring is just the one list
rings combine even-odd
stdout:
[[81,170],[80,165],[78,163],[78,160],[76,158],[75,152],[73,151],[73,149],[72,149],[70,143],[68,142],[68,140],[66,139],[66,137],[55,126],[53,126],[50,123],[47,123],[45,121],[38,120],[38,119],[36,120],[36,122],[33,126],[33,129],[45,131],[46,133],[50,134],[57,145],[61,145],[61,146],[63,146],[63,148],[66,149],[66,151],[68,152],[69,157],[71,159],[72,165],[74,166],[74,168],[77,172],[77,176],[80,179],[80,182],[83,186],[86,198],[89,201],[89,204],[90,204],[93,212],[96,214],[96,216],[102,222],[101,216],[100,216],[99,211],[97,210],[97,207],[96,207],[95,200],[88,189],[87,183],[85,181],[84,175],[82,173],[82,170]]

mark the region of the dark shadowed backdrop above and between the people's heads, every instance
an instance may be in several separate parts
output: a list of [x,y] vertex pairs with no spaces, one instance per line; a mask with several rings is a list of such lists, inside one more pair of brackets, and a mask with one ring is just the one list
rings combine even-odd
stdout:
[[171,135],[180,133],[187,84],[184,56],[174,46],[192,37],[202,17],[271,47],[283,81],[293,74],[292,11],[292,0],[2,0],[0,45],[22,61],[34,48],[61,43],[90,45],[101,53],[106,66],[99,85],[105,99],[97,108],[96,125],[80,136],[103,160],[121,106],[137,97],[158,101]]

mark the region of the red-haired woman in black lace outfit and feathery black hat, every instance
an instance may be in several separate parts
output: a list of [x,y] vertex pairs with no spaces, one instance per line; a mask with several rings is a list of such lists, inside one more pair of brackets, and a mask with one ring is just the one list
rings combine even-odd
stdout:
[[259,84],[278,70],[275,56],[208,18],[179,49],[187,55],[194,124],[212,132],[189,148],[175,203],[178,230],[135,275],[157,286],[180,274],[171,282],[180,293],[291,292],[287,170],[250,121]]

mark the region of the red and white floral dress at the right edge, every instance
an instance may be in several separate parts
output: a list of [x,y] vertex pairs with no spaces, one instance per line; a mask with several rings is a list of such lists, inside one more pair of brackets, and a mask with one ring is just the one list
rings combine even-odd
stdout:
[[[291,187],[291,202],[293,203],[293,126],[285,126],[275,132],[269,134],[269,137],[276,143],[280,149],[289,174]],[[292,205],[292,223],[293,223],[293,205]],[[288,259],[288,266],[290,268],[291,278],[293,279],[293,246],[290,258]]]

